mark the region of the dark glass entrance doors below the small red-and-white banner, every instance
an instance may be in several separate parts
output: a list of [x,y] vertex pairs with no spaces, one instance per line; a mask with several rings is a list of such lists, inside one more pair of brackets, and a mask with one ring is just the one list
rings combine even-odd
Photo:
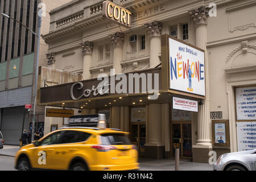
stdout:
[[181,158],[192,158],[192,132],[191,123],[178,123],[172,125],[172,154],[180,149]]

